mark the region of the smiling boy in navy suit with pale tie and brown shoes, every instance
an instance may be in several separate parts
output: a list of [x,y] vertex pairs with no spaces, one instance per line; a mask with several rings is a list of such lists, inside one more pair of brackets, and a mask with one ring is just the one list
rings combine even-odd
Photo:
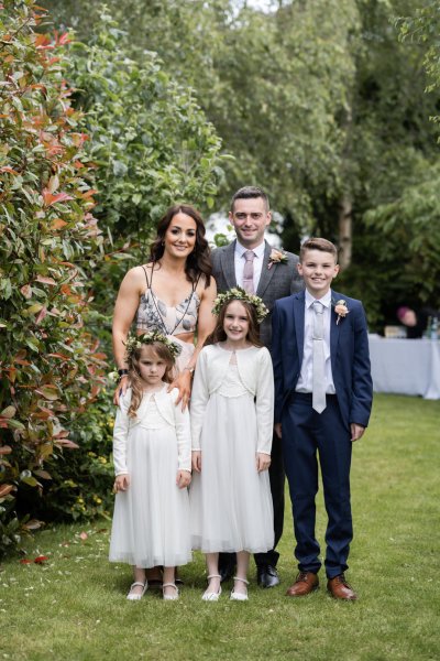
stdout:
[[277,301],[273,312],[275,431],[282,437],[299,568],[287,590],[293,597],[319,585],[319,453],[328,514],[327,587],[336,598],[356,598],[344,576],[353,538],[350,464],[352,442],[369,424],[373,387],[362,303],[331,290],[337,258],[337,248],[326,239],[302,243],[298,272],[306,291]]

